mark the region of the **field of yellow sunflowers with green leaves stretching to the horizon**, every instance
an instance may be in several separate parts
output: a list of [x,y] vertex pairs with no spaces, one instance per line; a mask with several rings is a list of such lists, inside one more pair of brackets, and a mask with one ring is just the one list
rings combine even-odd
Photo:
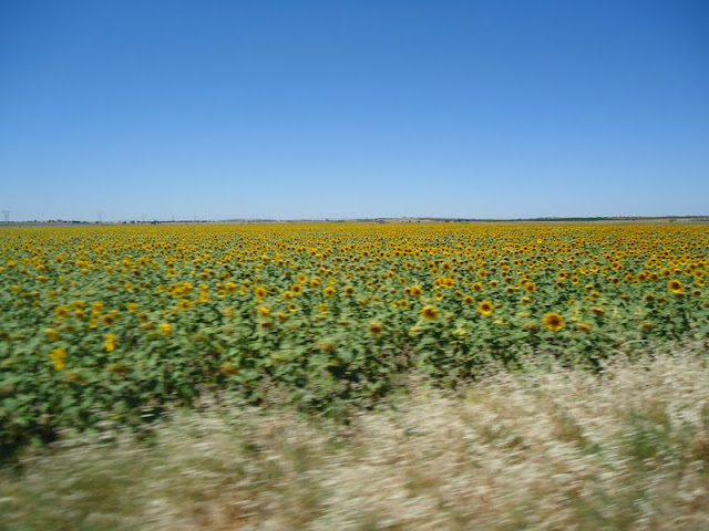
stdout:
[[0,448],[225,389],[340,415],[417,371],[598,368],[709,336],[709,227],[0,229]]

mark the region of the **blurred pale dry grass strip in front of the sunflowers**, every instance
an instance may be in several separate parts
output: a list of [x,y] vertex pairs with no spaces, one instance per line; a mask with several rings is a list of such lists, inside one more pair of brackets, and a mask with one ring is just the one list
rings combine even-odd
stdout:
[[229,406],[69,438],[2,472],[0,528],[709,530],[707,356],[419,382],[347,427]]

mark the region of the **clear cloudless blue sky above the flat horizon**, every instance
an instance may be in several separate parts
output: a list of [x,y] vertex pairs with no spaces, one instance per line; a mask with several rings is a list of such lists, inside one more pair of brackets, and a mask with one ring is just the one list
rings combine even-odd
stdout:
[[0,1],[11,219],[709,215],[709,2]]

